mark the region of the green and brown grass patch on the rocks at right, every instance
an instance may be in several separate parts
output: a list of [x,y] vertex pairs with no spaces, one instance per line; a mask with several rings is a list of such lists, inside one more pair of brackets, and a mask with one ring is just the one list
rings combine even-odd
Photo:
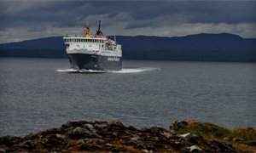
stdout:
[[[245,143],[246,141],[256,141],[256,130],[252,127],[240,127],[229,130],[208,122],[191,120],[188,123],[187,127],[179,129],[177,133],[195,133],[201,135],[204,139],[217,139],[221,142],[231,143],[236,150],[241,150],[242,152],[256,152],[256,146]],[[241,141],[237,141],[237,139]]]

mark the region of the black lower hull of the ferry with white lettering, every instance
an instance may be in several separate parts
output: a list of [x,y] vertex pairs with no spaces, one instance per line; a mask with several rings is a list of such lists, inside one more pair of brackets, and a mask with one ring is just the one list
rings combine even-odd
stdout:
[[76,70],[119,71],[122,57],[101,56],[96,54],[67,54],[71,67]]

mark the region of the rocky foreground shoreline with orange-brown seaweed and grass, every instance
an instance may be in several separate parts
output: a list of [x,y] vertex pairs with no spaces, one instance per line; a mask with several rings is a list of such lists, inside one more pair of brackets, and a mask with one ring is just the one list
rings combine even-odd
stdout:
[[25,137],[0,138],[0,152],[256,152],[256,130],[230,131],[211,123],[173,122],[137,128],[117,119],[67,122]]

